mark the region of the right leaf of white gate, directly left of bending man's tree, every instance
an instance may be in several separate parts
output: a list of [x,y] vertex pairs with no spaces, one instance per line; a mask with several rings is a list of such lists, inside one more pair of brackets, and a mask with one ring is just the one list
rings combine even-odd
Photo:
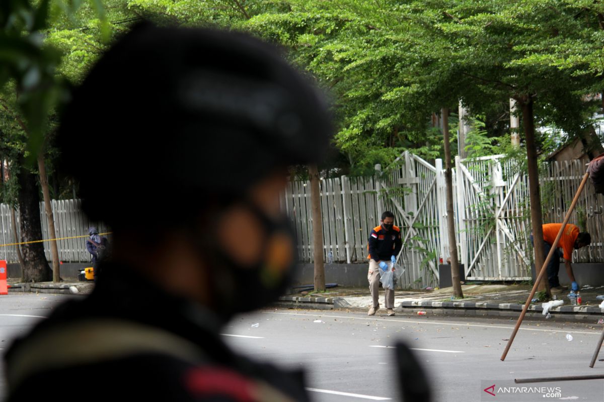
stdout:
[[471,280],[530,280],[528,180],[503,155],[455,159],[460,260]]

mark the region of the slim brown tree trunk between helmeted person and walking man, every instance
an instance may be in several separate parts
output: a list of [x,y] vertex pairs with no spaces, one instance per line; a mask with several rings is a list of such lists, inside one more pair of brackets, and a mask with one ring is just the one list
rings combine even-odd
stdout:
[[325,290],[325,266],[323,265],[323,218],[319,189],[319,170],[316,165],[308,167],[310,176],[310,204],[312,210],[312,244],[315,250],[315,291]]

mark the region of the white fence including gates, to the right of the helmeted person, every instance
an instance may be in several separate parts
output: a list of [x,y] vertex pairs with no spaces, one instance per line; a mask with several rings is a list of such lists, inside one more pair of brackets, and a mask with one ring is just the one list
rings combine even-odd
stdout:
[[[456,159],[453,172],[455,224],[460,262],[470,280],[527,280],[533,250],[529,236],[528,177],[503,155]],[[561,222],[585,173],[579,161],[553,162],[541,172],[544,223]],[[300,260],[312,262],[310,183],[289,184],[282,201],[298,233]],[[437,266],[449,256],[445,178],[434,165],[404,152],[372,178],[321,180],[324,259],[366,262],[368,233],[384,210],[402,229],[400,283],[438,282]],[[570,223],[591,233],[590,247],[575,251],[574,262],[603,262],[604,196],[586,186]]]

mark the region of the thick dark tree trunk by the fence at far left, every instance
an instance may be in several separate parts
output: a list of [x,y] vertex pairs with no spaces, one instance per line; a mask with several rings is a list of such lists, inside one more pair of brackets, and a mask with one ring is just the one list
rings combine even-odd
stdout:
[[[23,165],[24,162],[19,163]],[[37,188],[36,175],[27,168],[19,169],[19,213],[21,224],[21,241],[42,240],[40,224],[40,194]],[[26,282],[45,282],[51,278],[50,267],[44,256],[42,243],[29,243],[22,246]]]

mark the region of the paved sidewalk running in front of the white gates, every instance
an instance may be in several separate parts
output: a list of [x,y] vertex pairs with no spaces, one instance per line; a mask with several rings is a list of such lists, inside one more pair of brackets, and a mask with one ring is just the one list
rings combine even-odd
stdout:
[[[455,316],[498,316],[517,318],[524,307],[532,286],[530,285],[504,285],[504,284],[467,284],[461,286],[463,299],[454,299],[452,287],[437,290],[423,291],[395,291],[394,309],[397,313],[417,315],[455,315]],[[551,319],[587,321],[596,324],[604,319],[604,309],[599,305],[597,295],[604,295],[604,286],[584,286],[580,294],[581,306],[571,306],[568,292],[557,295],[557,300],[564,301],[560,307],[550,309]],[[384,301],[384,292],[381,291],[381,304]],[[280,304],[292,307],[316,309],[347,309],[367,311],[371,306],[369,289],[352,289],[347,287],[334,287],[327,289],[322,294],[294,294],[280,298]],[[527,317],[546,319],[542,315],[542,303],[536,301],[528,307]],[[377,315],[385,315],[382,308]]]

